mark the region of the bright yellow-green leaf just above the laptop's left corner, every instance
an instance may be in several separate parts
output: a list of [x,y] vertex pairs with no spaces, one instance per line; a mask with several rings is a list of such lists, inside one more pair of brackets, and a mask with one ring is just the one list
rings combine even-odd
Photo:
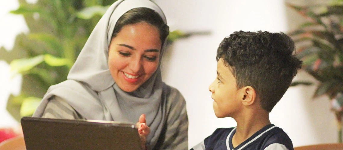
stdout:
[[27,97],[23,100],[23,103],[20,107],[20,115],[21,116],[31,116],[35,110],[37,109],[40,100],[42,98],[38,97]]

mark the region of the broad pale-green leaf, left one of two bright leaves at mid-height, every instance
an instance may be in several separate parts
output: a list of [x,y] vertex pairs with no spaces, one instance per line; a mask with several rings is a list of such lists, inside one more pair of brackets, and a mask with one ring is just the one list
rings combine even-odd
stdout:
[[37,66],[44,61],[44,55],[32,58],[15,59],[10,63],[12,74],[23,73]]

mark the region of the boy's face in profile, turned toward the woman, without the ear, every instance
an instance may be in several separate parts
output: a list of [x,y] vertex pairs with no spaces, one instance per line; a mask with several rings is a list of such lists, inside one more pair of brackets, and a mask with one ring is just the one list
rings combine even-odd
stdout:
[[220,58],[217,63],[217,78],[209,87],[214,100],[213,110],[218,118],[234,117],[239,112],[242,106],[240,99],[243,99],[241,89],[237,90],[232,71],[229,66],[224,65],[223,58]]

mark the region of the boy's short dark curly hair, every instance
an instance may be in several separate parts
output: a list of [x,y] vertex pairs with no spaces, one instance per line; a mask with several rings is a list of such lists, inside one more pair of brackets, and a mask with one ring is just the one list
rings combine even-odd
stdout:
[[252,86],[262,108],[270,112],[301,68],[293,51],[294,42],[285,33],[239,31],[224,38],[216,59],[229,65],[237,89]]

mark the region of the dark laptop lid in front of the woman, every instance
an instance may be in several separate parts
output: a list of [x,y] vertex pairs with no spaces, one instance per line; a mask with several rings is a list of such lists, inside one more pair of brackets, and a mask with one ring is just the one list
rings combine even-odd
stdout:
[[141,150],[133,123],[23,117],[27,150]]

